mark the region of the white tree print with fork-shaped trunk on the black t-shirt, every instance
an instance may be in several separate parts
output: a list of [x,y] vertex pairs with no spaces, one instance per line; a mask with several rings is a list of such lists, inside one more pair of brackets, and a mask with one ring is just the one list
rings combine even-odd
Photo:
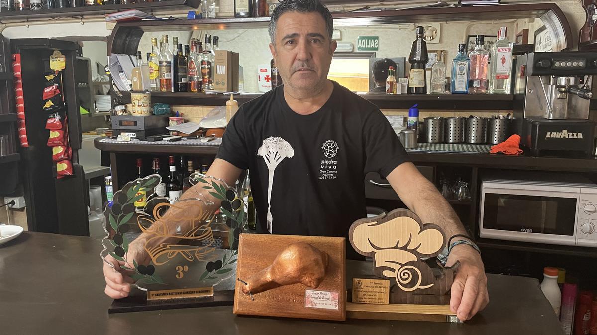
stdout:
[[267,231],[272,232],[272,185],[273,172],[276,167],[285,158],[294,156],[293,147],[283,138],[268,137],[261,142],[261,147],[257,150],[257,156],[263,157],[269,170],[267,181]]

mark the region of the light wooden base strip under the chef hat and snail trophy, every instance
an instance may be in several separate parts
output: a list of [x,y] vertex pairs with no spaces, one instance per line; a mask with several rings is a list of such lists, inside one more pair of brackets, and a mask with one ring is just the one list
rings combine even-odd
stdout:
[[450,305],[414,305],[391,303],[373,305],[346,303],[346,318],[401,321],[462,322],[450,311]]

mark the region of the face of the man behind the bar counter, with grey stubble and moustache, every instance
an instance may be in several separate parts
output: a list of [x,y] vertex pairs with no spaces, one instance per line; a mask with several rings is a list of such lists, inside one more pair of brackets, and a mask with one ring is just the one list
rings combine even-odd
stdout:
[[278,18],[275,45],[269,45],[285,86],[316,91],[324,85],[336,41],[330,41],[319,13],[287,12]]

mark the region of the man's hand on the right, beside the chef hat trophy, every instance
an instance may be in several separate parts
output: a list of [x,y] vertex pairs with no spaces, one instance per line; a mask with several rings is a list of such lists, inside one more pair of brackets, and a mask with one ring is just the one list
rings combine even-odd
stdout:
[[464,321],[487,306],[489,294],[481,255],[471,246],[458,244],[450,251],[446,265],[451,266],[457,260],[460,260],[460,266],[452,283],[450,309]]

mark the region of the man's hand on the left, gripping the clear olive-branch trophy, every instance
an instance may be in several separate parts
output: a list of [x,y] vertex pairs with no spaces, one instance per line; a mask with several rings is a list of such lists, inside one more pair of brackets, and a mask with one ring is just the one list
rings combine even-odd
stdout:
[[130,277],[132,272],[121,268],[121,265],[133,268],[133,259],[139,264],[149,263],[149,255],[143,249],[141,241],[137,240],[128,245],[128,253],[125,255],[125,259],[128,263],[107,255],[106,260],[113,266],[104,261],[104,279],[106,280],[106,290],[104,292],[113,299],[128,297],[128,294],[131,293],[131,284],[134,283],[133,278]]

